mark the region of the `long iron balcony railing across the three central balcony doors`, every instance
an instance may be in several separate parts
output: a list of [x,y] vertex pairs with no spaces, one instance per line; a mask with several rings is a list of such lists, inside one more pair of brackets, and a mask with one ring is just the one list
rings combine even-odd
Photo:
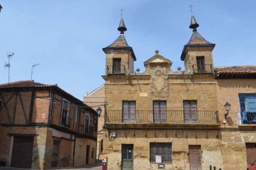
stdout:
[[132,124],[216,124],[218,111],[153,111],[153,110],[108,110],[106,123]]

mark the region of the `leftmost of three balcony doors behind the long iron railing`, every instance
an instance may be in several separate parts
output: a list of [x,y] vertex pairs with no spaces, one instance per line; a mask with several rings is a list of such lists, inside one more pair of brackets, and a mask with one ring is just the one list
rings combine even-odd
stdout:
[[135,101],[122,102],[122,121],[124,123],[136,122],[136,103]]

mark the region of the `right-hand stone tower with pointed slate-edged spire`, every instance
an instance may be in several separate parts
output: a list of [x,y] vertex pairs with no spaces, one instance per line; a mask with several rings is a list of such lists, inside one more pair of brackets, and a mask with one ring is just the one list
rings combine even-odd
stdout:
[[208,42],[197,32],[198,26],[199,24],[192,14],[189,28],[193,30],[193,34],[182,50],[181,60],[184,61],[186,72],[212,73],[213,57],[211,51],[213,51],[215,44]]

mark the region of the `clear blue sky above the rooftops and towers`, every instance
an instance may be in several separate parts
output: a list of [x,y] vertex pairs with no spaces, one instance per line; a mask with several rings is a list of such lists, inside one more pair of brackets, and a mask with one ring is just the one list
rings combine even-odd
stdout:
[[123,18],[124,36],[137,57],[134,68],[160,55],[176,71],[181,52],[192,35],[193,13],[203,38],[216,44],[214,66],[256,65],[256,1],[222,0],[0,0],[0,84],[33,78],[59,87],[83,100],[85,92],[104,83],[105,53],[118,36]]

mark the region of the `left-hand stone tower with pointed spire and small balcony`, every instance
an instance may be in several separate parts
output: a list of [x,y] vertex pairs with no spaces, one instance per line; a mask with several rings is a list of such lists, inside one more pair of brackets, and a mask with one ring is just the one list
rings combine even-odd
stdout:
[[122,17],[117,30],[120,31],[120,36],[108,47],[103,48],[106,54],[106,75],[134,73],[136,57],[124,37],[127,28]]

